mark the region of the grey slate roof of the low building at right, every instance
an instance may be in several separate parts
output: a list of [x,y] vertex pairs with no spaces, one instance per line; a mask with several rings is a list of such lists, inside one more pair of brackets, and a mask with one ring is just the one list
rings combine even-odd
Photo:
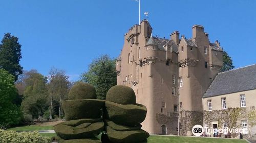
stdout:
[[219,73],[203,98],[251,89],[256,89],[256,64]]

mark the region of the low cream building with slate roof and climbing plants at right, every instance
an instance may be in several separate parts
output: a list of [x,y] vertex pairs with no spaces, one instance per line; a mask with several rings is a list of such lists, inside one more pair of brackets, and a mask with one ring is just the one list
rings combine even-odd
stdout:
[[[245,138],[256,139],[255,106],[256,64],[225,71],[217,75],[203,96],[204,126],[243,129]],[[219,135],[239,137],[229,132]]]

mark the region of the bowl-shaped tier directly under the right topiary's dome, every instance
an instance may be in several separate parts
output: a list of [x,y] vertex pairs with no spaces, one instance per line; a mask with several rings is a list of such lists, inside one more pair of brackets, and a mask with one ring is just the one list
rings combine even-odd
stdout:
[[146,107],[141,104],[121,105],[105,101],[105,115],[116,124],[124,126],[138,126],[145,120]]

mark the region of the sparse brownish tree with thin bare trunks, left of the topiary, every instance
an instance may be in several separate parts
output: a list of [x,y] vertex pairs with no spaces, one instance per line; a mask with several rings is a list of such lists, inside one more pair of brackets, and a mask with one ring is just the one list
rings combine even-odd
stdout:
[[68,89],[70,82],[68,81],[69,77],[65,75],[64,70],[60,70],[57,68],[51,68],[49,71],[49,84],[47,85],[49,98],[50,98],[50,119],[52,119],[52,109],[53,109],[53,101],[54,98],[59,100],[59,108],[58,115],[60,117],[61,114],[61,104],[62,101],[68,96]]

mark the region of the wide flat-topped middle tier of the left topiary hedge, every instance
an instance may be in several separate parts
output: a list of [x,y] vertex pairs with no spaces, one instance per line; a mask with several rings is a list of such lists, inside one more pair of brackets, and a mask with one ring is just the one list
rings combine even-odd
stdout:
[[97,99],[63,101],[62,108],[65,112],[66,121],[81,118],[100,118],[104,102],[104,100]]

